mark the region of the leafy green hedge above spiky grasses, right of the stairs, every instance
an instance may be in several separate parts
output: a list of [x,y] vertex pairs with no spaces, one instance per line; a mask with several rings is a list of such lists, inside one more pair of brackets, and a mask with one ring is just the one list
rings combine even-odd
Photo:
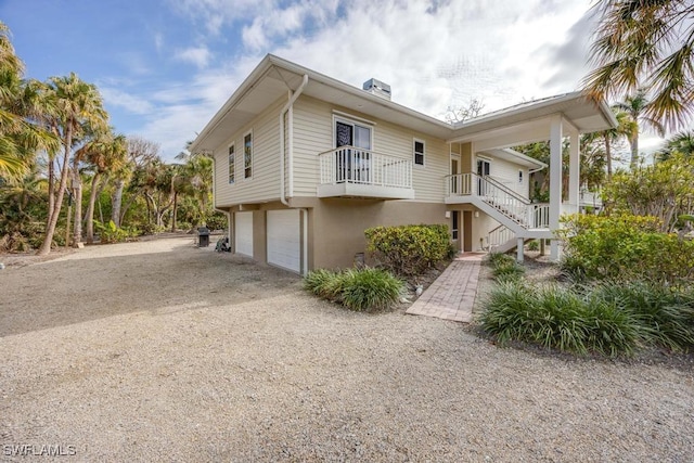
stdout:
[[575,279],[680,286],[694,280],[694,241],[659,232],[656,218],[580,215],[565,222],[561,266]]

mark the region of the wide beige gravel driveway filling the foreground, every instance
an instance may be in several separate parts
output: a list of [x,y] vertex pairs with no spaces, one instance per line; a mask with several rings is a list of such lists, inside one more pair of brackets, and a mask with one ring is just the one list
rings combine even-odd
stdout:
[[694,461],[690,362],[348,312],[192,237],[0,270],[0,336],[3,461]]

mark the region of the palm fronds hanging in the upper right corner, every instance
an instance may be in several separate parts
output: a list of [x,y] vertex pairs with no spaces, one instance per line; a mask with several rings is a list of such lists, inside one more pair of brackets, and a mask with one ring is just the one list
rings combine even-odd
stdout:
[[694,112],[694,4],[682,0],[599,0],[586,92],[608,100],[643,89],[644,116],[677,130]]

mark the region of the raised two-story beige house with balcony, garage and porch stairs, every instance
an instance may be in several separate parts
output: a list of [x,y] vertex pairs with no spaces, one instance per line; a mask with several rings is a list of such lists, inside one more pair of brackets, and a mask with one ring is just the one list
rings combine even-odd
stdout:
[[[522,259],[525,240],[551,239],[560,215],[578,210],[579,134],[613,126],[580,93],[451,125],[390,101],[375,79],[359,89],[267,55],[191,149],[215,159],[232,250],[306,273],[350,267],[375,226],[446,223],[462,252],[517,246]],[[530,173],[545,166],[510,149],[540,140],[551,145],[549,204],[528,200]]]

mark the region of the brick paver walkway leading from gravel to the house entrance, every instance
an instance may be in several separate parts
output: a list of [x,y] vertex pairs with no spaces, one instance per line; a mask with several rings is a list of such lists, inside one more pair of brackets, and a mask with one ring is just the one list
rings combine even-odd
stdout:
[[470,323],[484,254],[463,254],[422,293],[407,313]]

